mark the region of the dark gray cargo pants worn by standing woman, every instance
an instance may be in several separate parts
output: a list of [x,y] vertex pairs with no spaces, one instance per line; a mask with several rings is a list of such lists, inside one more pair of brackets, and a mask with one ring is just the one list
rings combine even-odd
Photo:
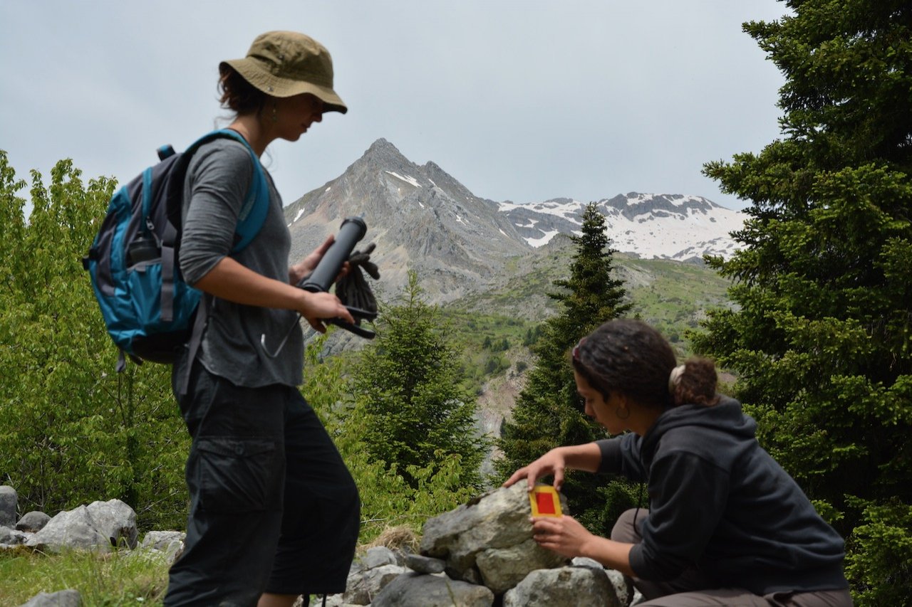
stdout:
[[240,607],[262,592],[343,592],[358,489],[298,390],[234,386],[196,361],[178,400],[192,437],[190,516],[164,604]]

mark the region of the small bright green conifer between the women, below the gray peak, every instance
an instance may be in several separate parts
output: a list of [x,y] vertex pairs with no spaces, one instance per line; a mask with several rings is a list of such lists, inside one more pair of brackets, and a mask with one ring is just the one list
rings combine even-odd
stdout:
[[481,488],[487,448],[475,428],[477,403],[461,387],[461,365],[440,311],[423,299],[418,277],[393,305],[381,305],[377,337],[351,372],[354,415],[368,452],[395,465],[413,488],[410,466],[459,457],[464,487]]

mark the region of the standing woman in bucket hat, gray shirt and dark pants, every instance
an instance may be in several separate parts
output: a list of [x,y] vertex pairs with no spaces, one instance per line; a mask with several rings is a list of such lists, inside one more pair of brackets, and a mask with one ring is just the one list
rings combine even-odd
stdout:
[[[219,71],[223,107],[235,113],[228,129],[257,157],[275,139],[297,140],[324,112],[347,111],[333,90],[329,53],[303,34],[257,36],[246,57]],[[358,489],[297,389],[303,334],[297,327],[275,358],[261,345],[262,335],[281,337],[298,313],[318,331],[323,319],[353,321],[335,295],[294,286],[332,238],[289,266],[291,236],[268,178],[264,225],[232,253],[253,178],[244,144],[215,139],[193,155],[184,183],[181,271],[204,293],[209,314],[199,354],[184,355],[173,372],[192,437],[191,504],[165,605],[266,607],[342,592],[358,540]]]

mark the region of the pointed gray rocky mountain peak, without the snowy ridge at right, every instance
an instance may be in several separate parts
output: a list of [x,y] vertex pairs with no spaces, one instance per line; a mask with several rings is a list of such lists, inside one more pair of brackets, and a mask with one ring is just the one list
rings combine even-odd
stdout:
[[530,249],[494,202],[474,196],[433,162],[414,164],[386,139],[285,208],[293,256],[306,254],[351,215],[363,216],[367,239],[384,255],[385,287],[398,290],[415,270],[430,277],[444,301],[490,283],[509,257]]

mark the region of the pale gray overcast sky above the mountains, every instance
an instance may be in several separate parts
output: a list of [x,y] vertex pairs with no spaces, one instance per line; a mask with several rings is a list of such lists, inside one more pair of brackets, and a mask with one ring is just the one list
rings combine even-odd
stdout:
[[[388,139],[482,198],[694,194],[780,137],[783,78],[741,24],[775,0],[0,0],[0,149],[129,180],[225,118],[218,63],[292,29],[333,56],[347,115],[267,150],[285,204]],[[224,122],[217,126],[223,126]],[[23,192],[25,195],[25,192]]]

